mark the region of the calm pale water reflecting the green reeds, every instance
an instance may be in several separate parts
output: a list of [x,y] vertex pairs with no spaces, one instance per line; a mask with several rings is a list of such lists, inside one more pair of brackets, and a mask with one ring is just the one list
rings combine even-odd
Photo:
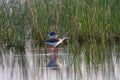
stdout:
[[59,70],[46,67],[53,53],[46,54],[44,49],[2,50],[0,80],[120,80],[119,52],[115,48],[106,53],[104,62],[96,64],[86,62],[85,50],[75,58],[60,50],[57,54],[63,66]]

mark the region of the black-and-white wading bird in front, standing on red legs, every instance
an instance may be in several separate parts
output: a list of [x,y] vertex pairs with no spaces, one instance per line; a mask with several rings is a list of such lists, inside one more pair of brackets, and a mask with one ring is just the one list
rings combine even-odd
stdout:
[[68,39],[68,38],[67,37],[62,37],[62,38],[52,38],[52,39],[44,41],[45,44],[47,44],[49,46],[52,46],[54,48],[54,58],[55,58],[55,60],[57,59],[57,56],[56,56],[57,48],[56,47],[66,39]]

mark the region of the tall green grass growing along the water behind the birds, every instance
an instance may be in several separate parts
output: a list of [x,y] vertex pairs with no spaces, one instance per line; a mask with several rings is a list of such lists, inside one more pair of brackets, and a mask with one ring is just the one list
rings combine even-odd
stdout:
[[26,0],[0,5],[0,44],[24,46],[31,29],[34,46],[43,45],[46,32],[69,37],[69,43],[120,40],[119,0]]

